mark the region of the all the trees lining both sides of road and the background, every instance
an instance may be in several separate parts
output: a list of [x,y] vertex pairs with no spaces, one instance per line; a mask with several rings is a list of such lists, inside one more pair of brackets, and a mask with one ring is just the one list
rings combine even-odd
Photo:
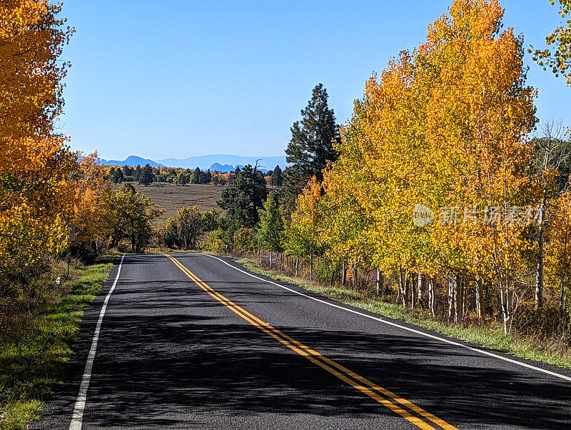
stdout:
[[[436,318],[569,336],[570,140],[558,124],[537,126],[523,42],[502,28],[497,1],[453,1],[425,43],[367,81],[343,126],[315,86],[290,129],[289,166],[266,174],[80,157],[54,127],[73,30],[47,1],[3,7],[0,301],[11,315],[30,308],[30,280],[50,259],[154,243],[267,250],[272,265]],[[221,210],[182,208],[160,225],[131,181],[223,185]]]

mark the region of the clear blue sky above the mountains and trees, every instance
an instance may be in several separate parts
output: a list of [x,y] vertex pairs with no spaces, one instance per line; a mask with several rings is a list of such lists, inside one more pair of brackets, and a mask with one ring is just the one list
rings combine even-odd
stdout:
[[[67,0],[59,127],[105,159],[283,155],[315,84],[346,121],[365,80],[425,40],[451,0]],[[549,0],[504,0],[504,24],[542,46]],[[571,125],[571,88],[526,54],[540,119]]]

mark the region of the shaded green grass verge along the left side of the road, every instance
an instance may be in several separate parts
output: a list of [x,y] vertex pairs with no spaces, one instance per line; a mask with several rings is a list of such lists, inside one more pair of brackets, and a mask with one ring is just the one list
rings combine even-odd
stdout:
[[34,318],[17,341],[0,344],[0,429],[23,429],[39,417],[43,400],[65,375],[84,309],[108,278],[115,257],[74,266],[56,304]]

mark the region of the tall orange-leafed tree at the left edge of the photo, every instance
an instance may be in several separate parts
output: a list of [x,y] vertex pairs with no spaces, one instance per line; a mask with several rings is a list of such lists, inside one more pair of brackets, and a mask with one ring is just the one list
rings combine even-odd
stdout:
[[76,156],[54,133],[72,30],[46,0],[0,4],[0,266],[59,249]]

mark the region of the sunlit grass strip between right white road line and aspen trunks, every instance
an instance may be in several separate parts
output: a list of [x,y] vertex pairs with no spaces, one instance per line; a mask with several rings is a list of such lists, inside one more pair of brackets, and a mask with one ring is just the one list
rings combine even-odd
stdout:
[[494,330],[488,326],[460,326],[456,324],[447,324],[443,321],[431,318],[423,311],[403,309],[402,306],[386,303],[378,299],[376,296],[365,294],[360,291],[339,286],[325,286],[316,282],[310,282],[307,279],[285,276],[277,271],[263,269],[259,266],[258,261],[254,259],[239,259],[238,263],[257,274],[262,274],[278,281],[300,286],[308,291],[321,294],[328,299],[340,301],[341,303],[365,309],[366,311],[374,312],[375,314],[399,319],[415,326],[438,331],[438,333],[445,334],[446,336],[450,336],[454,339],[460,339],[461,341],[485,346],[486,348],[512,354],[522,359],[540,361],[542,363],[571,369],[570,351],[551,350],[550,346],[545,344],[545,341],[525,336],[506,336],[503,334],[503,331],[499,329]]

